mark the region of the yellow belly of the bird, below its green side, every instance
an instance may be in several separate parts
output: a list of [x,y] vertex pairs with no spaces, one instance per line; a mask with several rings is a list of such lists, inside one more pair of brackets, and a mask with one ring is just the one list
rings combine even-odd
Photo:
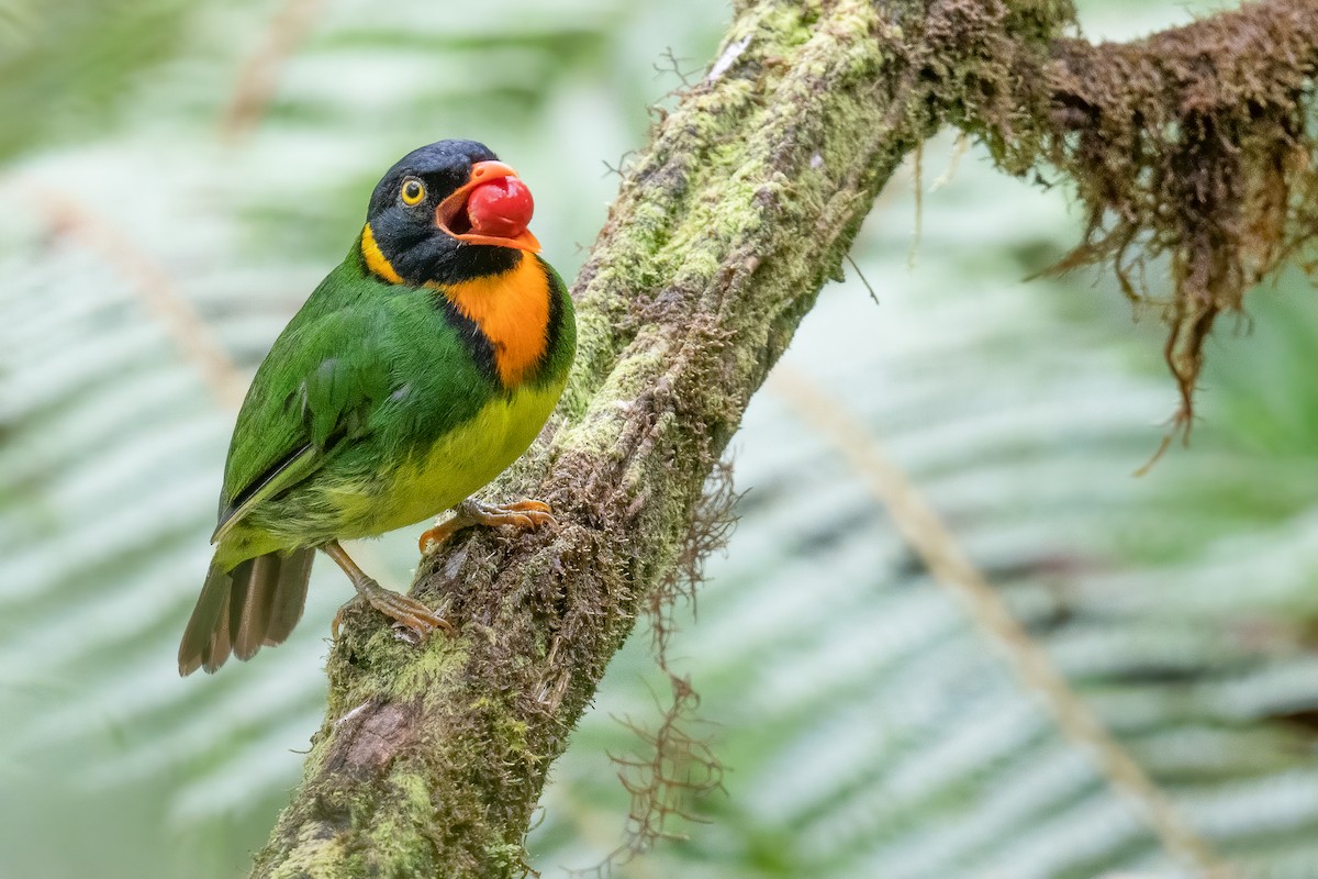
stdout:
[[[497,399],[391,473],[382,496],[349,501],[348,519],[369,534],[391,531],[439,515],[502,473],[535,440],[563,387],[521,390]],[[344,498],[347,501],[347,498]],[[369,509],[366,509],[369,507]],[[360,513],[353,515],[353,513]],[[365,522],[362,519],[370,519]],[[349,530],[358,530],[349,526]]]

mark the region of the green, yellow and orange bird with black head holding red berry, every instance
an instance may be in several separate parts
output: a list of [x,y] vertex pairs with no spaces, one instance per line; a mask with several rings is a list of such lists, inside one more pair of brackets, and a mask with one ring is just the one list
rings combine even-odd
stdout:
[[282,643],[318,550],[415,642],[452,626],[381,586],[340,540],[445,510],[423,553],[474,525],[554,522],[540,501],[472,497],[539,435],[576,353],[572,299],[539,256],[532,211],[517,171],[476,141],[422,146],[380,179],[357,240],[239,411],[182,676]]

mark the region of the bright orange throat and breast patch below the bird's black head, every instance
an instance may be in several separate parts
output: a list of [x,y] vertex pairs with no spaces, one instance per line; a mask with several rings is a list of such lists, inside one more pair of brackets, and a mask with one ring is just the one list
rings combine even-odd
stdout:
[[535,257],[523,254],[502,274],[426,286],[439,290],[485,333],[505,387],[522,383],[544,357],[550,339],[550,281]]

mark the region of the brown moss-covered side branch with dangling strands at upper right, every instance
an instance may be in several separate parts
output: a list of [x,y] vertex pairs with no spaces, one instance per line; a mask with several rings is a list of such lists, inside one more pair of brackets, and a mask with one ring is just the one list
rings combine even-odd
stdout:
[[[1161,307],[1189,431],[1217,318],[1318,232],[1313,4],[1253,3],[1130,43],[1057,40],[1043,63],[990,49],[966,127],[1004,169],[1046,165],[1075,187],[1083,240],[1056,270],[1111,266],[1131,299]],[[1148,271],[1164,258],[1169,290]]]

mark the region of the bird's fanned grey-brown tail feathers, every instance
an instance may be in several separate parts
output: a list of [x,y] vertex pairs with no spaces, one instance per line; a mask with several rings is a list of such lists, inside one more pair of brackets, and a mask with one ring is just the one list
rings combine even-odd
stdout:
[[302,617],[315,550],[268,552],[232,569],[215,560],[178,646],[178,673],[214,672],[229,654],[250,659],[282,644]]

